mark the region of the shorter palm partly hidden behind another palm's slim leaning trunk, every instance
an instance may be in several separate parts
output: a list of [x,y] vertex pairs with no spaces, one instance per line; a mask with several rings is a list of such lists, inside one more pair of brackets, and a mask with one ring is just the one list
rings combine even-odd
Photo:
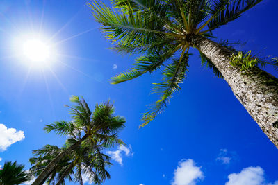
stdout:
[[[80,136],[80,134],[79,134]],[[66,146],[70,146],[70,139],[67,140]],[[44,168],[53,160],[60,152],[67,147],[58,148],[58,146],[46,145],[39,150],[33,150],[33,155],[29,159],[32,167],[30,168],[31,176],[38,177]],[[82,173],[89,177],[91,182],[101,184],[106,177],[110,178],[109,173],[105,169],[110,165],[110,157],[100,152],[101,146],[81,145],[74,150],[70,156],[64,157],[54,170],[45,178],[47,184],[65,184],[65,178],[72,181],[71,175],[74,174],[74,181],[83,184]]]

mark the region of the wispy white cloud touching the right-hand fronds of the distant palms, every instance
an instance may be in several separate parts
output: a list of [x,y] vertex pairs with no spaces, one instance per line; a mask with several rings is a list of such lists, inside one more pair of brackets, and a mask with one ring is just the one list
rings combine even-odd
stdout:
[[132,148],[129,145],[129,148],[127,148],[126,146],[118,146],[117,150],[115,151],[107,151],[106,153],[108,155],[111,156],[111,158],[115,161],[117,161],[118,164],[120,164],[120,166],[123,166],[122,164],[122,153],[124,153],[124,155],[126,156],[133,156],[133,152],[131,152]]

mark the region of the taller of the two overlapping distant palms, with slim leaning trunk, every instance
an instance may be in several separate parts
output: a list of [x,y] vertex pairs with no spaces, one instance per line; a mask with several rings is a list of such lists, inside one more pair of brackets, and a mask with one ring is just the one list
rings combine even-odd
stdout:
[[71,145],[60,152],[53,160],[47,164],[42,173],[38,175],[33,184],[42,184],[45,178],[54,170],[64,157],[70,156],[74,150],[81,145],[88,146],[114,146],[115,143],[122,143],[118,139],[117,132],[124,127],[125,120],[122,116],[114,115],[114,108],[109,101],[95,106],[95,111],[91,112],[88,104],[78,96],[72,96],[70,99],[76,103],[76,106],[70,107],[72,121],[56,121],[46,125],[46,132],[55,131],[57,134],[72,136],[76,133],[81,134],[80,139],[70,138]]

